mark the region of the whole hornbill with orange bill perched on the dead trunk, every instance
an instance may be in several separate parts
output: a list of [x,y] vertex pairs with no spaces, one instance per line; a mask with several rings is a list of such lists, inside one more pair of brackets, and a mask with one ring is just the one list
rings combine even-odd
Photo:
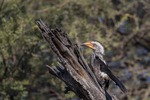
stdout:
[[104,89],[107,90],[109,87],[110,79],[115,82],[119,88],[126,93],[127,89],[122,84],[122,82],[113,75],[113,73],[108,68],[107,63],[105,62],[103,55],[104,47],[98,41],[89,41],[82,44],[82,46],[87,46],[93,49],[93,54],[90,59],[90,67],[98,79],[99,84],[102,86],[101,82],[103,82]]

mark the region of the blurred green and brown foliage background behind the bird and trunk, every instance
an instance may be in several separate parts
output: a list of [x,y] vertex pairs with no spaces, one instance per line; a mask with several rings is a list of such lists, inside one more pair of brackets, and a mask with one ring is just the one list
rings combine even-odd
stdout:
[[[48,73],[57,65],[35,24],[44,19],[59,26],[74,42],[100,41],[113,73],[127,86],[111,83],[110,94],[121,100],[150,100],[149,0],[1,0],[0,100],[64,100],[64,83]],[[89,59],[91,50],[83,50]]]

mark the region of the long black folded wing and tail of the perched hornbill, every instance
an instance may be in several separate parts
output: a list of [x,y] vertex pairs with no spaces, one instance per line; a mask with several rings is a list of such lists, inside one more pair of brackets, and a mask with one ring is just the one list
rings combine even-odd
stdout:
[[[96,57],[98,59],[98,57]],[[100,65],[100,70],[102,72],[105,72],[109,78],[111,80],[113,80],[117,86],[119,86],[119,88],[124,92],[126,93],[127,92],[127,89],[125,88],[125,86],[122,84],[122,82],[116,77],[113,75],[113,73],[110,71],[110,69],[108,68],[108,65],[106,65],[101,59],[99,59],[99,63],[101,64]]]

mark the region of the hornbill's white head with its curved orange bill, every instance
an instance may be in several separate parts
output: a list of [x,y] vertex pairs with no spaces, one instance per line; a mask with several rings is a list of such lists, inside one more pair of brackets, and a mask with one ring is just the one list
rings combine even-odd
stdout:
[[82,46],[87,46],[93,49],[95,52],[101,53],[102,55],[105,54],[104,47],[98,41],[88,41],[88,42],[83,43]]

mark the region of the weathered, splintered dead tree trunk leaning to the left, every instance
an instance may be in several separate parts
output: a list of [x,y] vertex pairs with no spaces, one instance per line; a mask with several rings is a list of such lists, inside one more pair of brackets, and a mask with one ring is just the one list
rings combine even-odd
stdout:
[[48,28],[42,20],[37,21],[44,39],[58,57],[60,66],[50,67],[49,72],[67,85],[66,91],[75,92],[84,100],[116,100],[98,84],[77,44],[60,29]]

